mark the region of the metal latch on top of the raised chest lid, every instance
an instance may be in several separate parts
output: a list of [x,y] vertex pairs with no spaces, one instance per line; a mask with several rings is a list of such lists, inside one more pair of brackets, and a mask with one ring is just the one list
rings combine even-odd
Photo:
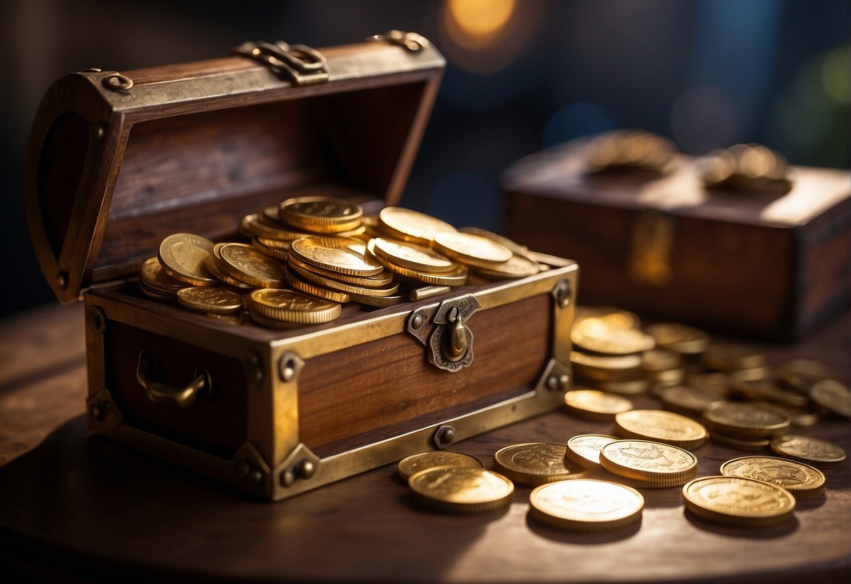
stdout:
[[313,85],[328,81],[328,60],[306,44],[283,41],[243,43],[231,51],[269,66],[277,76],[285,75],[294,85]]

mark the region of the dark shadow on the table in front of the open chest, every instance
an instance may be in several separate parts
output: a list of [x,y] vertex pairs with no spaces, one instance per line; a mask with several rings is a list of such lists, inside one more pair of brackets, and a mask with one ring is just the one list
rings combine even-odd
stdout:
[[13,571],[83,581],[127,574],[387,581],[414,567],[421,579],[437,581],[501,517],[423,512],[391,472],[383,467],[285,501],[257,501],[89,437],[79,415],[0,467],[0,543],[9,544],[0,556],[7,554]]

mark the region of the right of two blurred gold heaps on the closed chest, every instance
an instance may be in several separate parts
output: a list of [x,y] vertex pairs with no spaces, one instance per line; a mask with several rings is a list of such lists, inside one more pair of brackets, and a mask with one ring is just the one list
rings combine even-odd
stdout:
[[761,144],[736,144],[726,150],[714,150],[700,157],[697,164],[709,189],[779,194],[791,188],[785,157]]

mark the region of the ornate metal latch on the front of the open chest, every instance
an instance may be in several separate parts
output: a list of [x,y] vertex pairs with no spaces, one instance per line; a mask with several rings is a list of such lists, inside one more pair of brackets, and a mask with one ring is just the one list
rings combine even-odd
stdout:
[[473,362],[473,333],[466,322],[481,306],[471,294],[424,306],[408,317],[408,332],[426,346],[429,363],[454,373]]

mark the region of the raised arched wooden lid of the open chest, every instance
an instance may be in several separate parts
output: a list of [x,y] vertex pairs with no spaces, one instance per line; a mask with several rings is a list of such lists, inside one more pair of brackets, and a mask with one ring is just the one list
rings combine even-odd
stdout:
[[173,232],[220,239],[243,215],[324,194],[397,203],[445,61],[392,31],[314,50],[60,78],[27,147],[26,214],[60,301],[123,278]]

